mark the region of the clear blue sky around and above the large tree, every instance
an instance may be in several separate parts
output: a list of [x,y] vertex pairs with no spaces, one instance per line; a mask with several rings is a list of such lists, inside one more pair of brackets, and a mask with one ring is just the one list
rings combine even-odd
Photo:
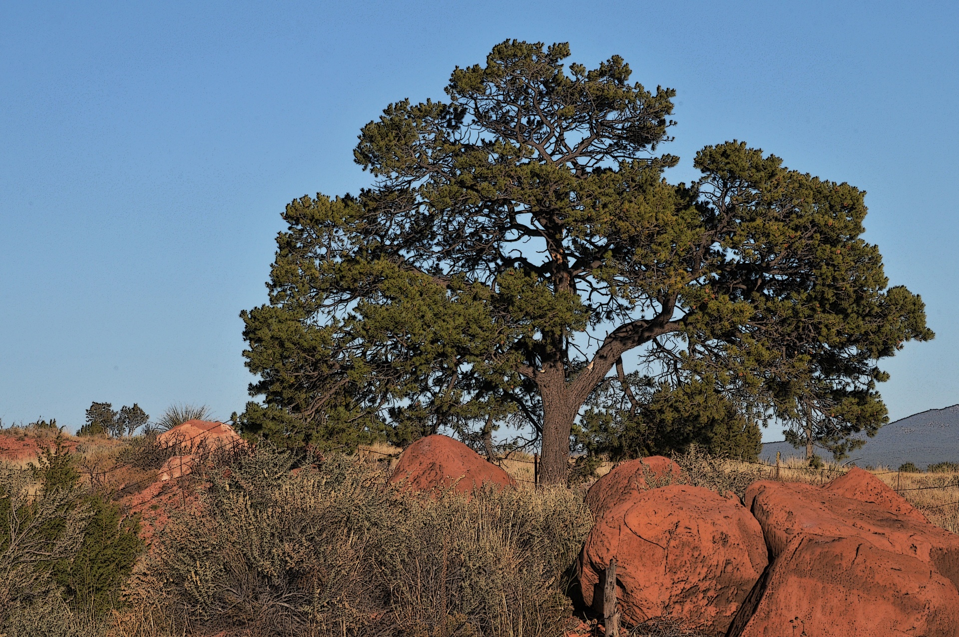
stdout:
[[266,300],[285,203],[356,192],[363,124],[511,37],[675,88],[672,180],[736,138],[868,191],[866,238],[937,332],[885,364],[890,413],[959,403],[956,7],[5,3],[0,418],[242,411],[238,315]]

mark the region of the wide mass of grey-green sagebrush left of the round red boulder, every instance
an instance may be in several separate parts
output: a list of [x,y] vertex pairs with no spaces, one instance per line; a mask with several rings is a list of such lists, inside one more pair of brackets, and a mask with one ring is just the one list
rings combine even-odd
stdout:
[[369,463],[290,463],[234,460],[161,534],[139,578],[180,631],[542,635],[568,621],[564,573],[592,525],[581,492],[430,497]]

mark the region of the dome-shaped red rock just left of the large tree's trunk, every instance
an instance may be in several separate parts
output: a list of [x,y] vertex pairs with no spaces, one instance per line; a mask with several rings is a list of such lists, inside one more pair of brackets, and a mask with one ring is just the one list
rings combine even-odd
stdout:
[[413,442],[400,456],[390,482],[406,481],[405,487],[429,491],[456,484],[468,493],[483,484],[515,485],[503,469],[487,462],[462,442],[449,436],[426,436]]

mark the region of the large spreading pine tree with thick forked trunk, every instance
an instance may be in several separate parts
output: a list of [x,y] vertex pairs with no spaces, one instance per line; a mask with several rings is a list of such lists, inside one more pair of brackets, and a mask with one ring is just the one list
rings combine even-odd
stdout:
[[655,412],[627,352],[661,388],[650,398],[700,392],[713,413],[836,448],[885,421],[878,361],[933,335],[860,237],[864,193],[738,141],[670,183],[678,158],[657,151],[674,91],[630,83],[619,57],[569,55],[497,45],[456,68],[446,101],[363,127],[369,188],[287,206],[269,303],[242,313],[266,401],[248,431],[355,444],[508,422],[559,482],[597,392]]

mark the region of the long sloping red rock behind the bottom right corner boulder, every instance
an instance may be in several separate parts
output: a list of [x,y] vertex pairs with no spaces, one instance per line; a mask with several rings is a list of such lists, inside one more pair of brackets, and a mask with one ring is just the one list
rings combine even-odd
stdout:
[[773,556],[803,534],[857,538],[916,557],[959,586],[959,535],[913,517],[820,486],[769,481],[746,489],[746,506],[759,520]]

